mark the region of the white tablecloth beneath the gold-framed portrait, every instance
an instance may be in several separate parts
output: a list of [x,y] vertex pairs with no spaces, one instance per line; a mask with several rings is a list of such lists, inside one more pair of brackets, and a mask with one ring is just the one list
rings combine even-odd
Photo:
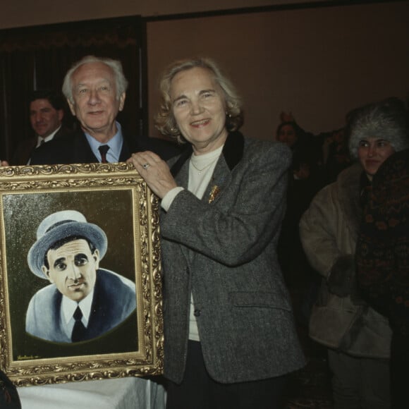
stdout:
[[163,386],[142,378],[68,382],[17,389],[22,409],[164,409]]

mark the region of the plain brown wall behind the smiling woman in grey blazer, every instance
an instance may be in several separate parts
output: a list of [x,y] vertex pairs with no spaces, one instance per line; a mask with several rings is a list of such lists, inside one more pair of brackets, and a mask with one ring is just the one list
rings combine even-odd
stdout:
[[282,110],[313,133],[340,128],[353,107],[409,96],[408,16],[405,1],[152,21],[149,114],[164,66],[204,55],[242,94],[248,135],[272,138]]

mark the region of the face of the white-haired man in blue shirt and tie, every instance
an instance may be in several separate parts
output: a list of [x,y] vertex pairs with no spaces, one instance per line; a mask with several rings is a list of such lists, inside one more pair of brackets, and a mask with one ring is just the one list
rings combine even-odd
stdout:
[[112,69],[104,63],[85,63],[71,78],[73,102],[68,100],[85,132],[99,142],[106,142],[116,133],[115,119],[122,111],[125,92],[116,96],[116,80]]

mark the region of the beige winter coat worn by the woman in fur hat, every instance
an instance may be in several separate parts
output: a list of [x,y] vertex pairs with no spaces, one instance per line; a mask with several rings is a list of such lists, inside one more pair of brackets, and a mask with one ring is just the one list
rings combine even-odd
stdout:
[[[317,193],[300,220],[300,238],[310,264],[329,276],[340,256],[355,255],[360,226],[360,176],[355,164],[335,183]],[[324,282],[324,291],[326,285]],[[321,293],[312,311],[310,336],[329,348],[359,357],[389,358],[391,329],[387,319],[346,296]]]

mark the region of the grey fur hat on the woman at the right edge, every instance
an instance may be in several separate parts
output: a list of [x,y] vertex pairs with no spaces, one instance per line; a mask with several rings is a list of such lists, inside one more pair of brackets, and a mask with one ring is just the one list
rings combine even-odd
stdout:
[[365,138],[382,138],[401,151],[409,147],[408,111],[395,97],[362,106],[347,115],[347,133],[351,157],[358,157],[359,142]]

